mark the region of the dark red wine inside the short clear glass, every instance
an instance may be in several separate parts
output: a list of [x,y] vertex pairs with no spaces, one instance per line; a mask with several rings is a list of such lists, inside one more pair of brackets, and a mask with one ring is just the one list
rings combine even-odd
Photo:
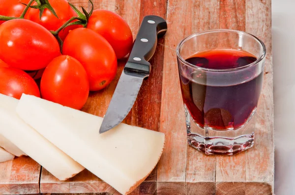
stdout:
[[[233,69],[255,62],[257,58],[244,50],[212,49],[198,52],[186,59],[187,62],[207,69]],[[237,129],[242,126],[257,107],[262,89],[263,73],[255,76],[255,71],[240,71],[236,73],[239,79],[246,82],[231,84],[232,77],[224,77],[218,83],[210,82],[205,77],[205,83],[198,83],[187,78],[187,73],[180,73],[182,98],[192,120],[201,127],[211,127],[216,130]],[[193,73],[189,73],[191,75]],[[197,75],[206,76],[206,75]],[[235,75],[234,75],[235,76]],[[221,77],[223,79],[223,77]],[[206,80],[207,79],[207,80]],[[228,85],[224,83],[229,83]]]

